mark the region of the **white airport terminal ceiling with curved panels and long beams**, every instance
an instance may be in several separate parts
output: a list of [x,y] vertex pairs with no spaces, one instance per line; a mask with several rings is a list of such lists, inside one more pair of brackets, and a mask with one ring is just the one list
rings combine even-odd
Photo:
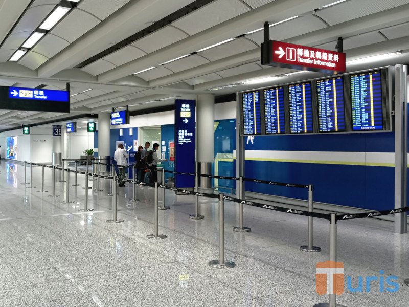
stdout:
[[[69,82],[71,113],[80,115],[126,105],[131,111],[157,108],[175,97],[219,96],[322,76],[286,76],[296,71],[261,65],[263,31],[255,30],[265,21],[275,24],[271,39],[299,45],[336,50],[343,37],[347,61],[401,52],[347,64],[348,71],[409,62],[409,0],[336,2],[3,0],[0,85],[65,90]],[[18,61],[10,61],[50,13],[67,3],[69,12]],[[248,83],[272,76],[280,78]],[[0,129],[66,116],[0,110]]]

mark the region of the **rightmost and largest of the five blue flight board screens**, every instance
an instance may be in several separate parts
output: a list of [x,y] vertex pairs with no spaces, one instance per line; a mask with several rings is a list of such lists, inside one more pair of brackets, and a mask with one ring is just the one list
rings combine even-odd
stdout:
[[351,78],[352,130],[382,130],[380,71],[353,74]]

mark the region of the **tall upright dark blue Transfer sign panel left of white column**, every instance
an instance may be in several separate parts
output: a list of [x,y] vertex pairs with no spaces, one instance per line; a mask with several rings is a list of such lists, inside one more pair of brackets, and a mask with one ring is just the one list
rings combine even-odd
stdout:
[[[177,172],[195,172],[195,107],[195,100],[175,100],[175,171]],[[194,176],[175,176],[175,187],[194,186]]]

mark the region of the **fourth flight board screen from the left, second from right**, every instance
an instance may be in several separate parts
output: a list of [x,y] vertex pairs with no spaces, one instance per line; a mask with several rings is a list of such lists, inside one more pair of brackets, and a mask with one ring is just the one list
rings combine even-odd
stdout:
[[317,81],[320,132],[345,131],[344,79],[336,77]]

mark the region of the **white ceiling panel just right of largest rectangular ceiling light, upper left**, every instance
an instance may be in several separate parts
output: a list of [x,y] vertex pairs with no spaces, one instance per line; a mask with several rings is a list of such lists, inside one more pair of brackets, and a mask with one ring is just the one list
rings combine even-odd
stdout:
[[100,20],[87,12],[75,8],[51,31],[69,42],[74,42],[90,29],[100,23]]

